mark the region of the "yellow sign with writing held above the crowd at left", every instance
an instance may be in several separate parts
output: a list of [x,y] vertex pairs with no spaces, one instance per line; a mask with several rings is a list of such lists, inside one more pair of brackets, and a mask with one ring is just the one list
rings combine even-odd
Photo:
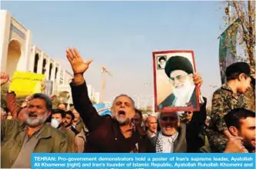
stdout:
[[45,75],[30,72],[15,71],[9,90],[15,91],[16,97],[41,93],[41,83]]

